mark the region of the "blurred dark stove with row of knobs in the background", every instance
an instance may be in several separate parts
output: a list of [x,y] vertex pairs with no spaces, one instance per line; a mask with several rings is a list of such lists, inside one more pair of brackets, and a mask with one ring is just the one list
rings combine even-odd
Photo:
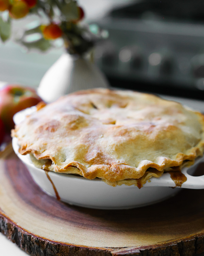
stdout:
[[203,99],[204,1],[137,1],[95,21],[96,62],[116,87]]

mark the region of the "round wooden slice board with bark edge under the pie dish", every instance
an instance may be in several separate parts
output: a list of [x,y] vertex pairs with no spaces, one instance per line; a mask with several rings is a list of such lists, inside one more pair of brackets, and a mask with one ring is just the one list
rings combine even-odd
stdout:
[[0,231],[31,255],[204,252],[204,189],[132,210],[75,207],[44,193],[11,147],[0,156]]

